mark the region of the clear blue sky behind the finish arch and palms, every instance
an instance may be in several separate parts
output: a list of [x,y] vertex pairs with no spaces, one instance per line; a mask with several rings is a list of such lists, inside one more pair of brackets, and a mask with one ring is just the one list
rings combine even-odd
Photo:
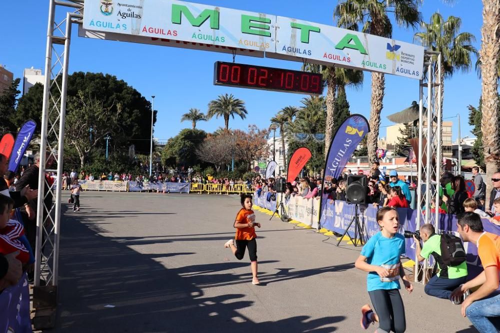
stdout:
[[[197,0],[197,3],[221,7],[265,12],[292,18],[304,19],[323,24],[334,24],[332,18],[336,1],[316,0],[300,5],[290,0]],[[312,5],[312,3],[314,5]],[[44,68],[44,55],[47,30],[48,0],[2,1],[4,13],[0,20],[0,63],[21,77],[24,68],[34,66]],[[29,9],[29,10],[27,10]],[[421,8],[425,21],[439,11],[445,18],[449,15],[462,19],[461,31],[475,35],[475,47],[480,48],[480,28],[482,5],[477,0],[455,0],[445,4],[440,0],[426,0]],[[58,13],[60,15],[61,13]],[[176,135],[182,128],[190,127],[188,122],[180,122],[180,117],[190,108],[206,112],[207,104],[218,95],[232,93],[246,103],[247,118],[230,119],[230,128],[245,129],[248,124],[267,127],[269,119],[281,108],[300,105],[305,95],[253,89],[220,87],[213,85],[213,63],[217,60],[231,61],[232,55],[178,49],[171,47],[133,44],[105,40],[92,40],[77,36],[73,29],[69,72],[91,71],[115,75],[137,89],[150,99],[155,95],[154,108],[158,110],[158,120],[154,136],[167,139]],[[393,38],[412,42],[415,31],[394,27]],[[475,59],[474,59],[475,61]],[[236,56],[236,62],[271,67],[299,69],[300,63],[267,58]],[[369,116],[371,75],[365,73],[364,84],[359,90],[347,90],[351,113]],[[325,90],[326,92],[326,90]],[[467,123],[467,105],[477,105],[481,93],[481,83],[475,70],[469,73],[456,73],[445,81],[443,116],[461,115],[462,137],[470,134]],[[385,75],[385,96],[383,100],[382,124],[391,125],[386,116],[400,111],[418,99],[418,81],[414,79]],[[453,122],[453,140],[457,137],[456,118]],[[198,123],[205,131],[214,131],[223,126],[223,119],[211,119]],[[385,129],[380,129],[385,136]]]

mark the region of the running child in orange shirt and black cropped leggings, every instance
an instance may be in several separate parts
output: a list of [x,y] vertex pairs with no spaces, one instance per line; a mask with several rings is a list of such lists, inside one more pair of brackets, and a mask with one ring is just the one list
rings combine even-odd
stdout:
[[236,228],[234,239],[228,240],[224,244],[224,248],[230,248],[232,254],[238,259],[243,259],[245,249],[248,249],[248,255],[251,262],[251,273],[253,276],[252,284],[259,285],[257,278],[257,242],[255,238],[255,226],[260,228],[260,223],[255,222],[255,214],[251,210],[252,196],[249,194],[241,194],[241,208],[236,215],[233,227]]

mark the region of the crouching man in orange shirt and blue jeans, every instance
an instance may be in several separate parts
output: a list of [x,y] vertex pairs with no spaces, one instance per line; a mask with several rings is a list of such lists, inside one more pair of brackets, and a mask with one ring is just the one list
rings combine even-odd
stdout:
[[456,288],[451,299],[459,299],[469,289],[480,286],[463,301],[462,316],[467,317],[481,333],[498,332],[500,325],[491,318],[500,317],[500,295],[494,294],[500,272],[500,236],[485,232],[476,213],[464,213],[458,219],[457,227],[464,242],[476,244],[484,271]]

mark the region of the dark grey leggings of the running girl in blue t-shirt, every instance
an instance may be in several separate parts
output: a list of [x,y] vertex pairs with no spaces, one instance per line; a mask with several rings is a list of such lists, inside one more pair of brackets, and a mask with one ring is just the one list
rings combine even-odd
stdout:
[[406,330],[404,305],[399,290],[374,290],[368,292],[371,304],[378,316],[377,332],[402,333]]

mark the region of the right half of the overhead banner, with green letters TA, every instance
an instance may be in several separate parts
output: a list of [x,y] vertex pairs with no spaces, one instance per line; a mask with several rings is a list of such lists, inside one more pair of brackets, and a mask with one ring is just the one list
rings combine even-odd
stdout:
[[276,25],[270,57],[422,78],[422,46],[282,16]]

